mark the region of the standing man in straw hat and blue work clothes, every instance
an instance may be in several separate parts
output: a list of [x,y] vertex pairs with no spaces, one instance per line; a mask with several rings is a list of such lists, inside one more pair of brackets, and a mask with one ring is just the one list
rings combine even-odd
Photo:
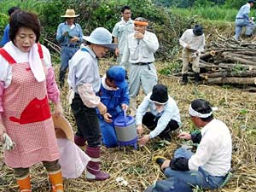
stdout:
[[79,49],[80,43],[83,42],[82,28],[78,23],[74,22],[74,18],[78,16],[75,14],[74,9],[67,9],[66,14],[61,15],[61,17],[66,18],[66,21],[61,23],[57,29],[56,39],[61,44],[61,67],[59,75],[61,88],[64,85],[68,61]]

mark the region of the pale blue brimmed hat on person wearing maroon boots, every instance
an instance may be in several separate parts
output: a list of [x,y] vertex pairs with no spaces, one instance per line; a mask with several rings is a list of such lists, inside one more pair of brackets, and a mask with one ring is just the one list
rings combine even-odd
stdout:
[[115,49],[117,44],[112,43],[112,35],[104,27],[97,27],[93,32],[90,33],[90,36],[83,36],[85,41],[90,42],[91,44],[102,45],[109,49]]

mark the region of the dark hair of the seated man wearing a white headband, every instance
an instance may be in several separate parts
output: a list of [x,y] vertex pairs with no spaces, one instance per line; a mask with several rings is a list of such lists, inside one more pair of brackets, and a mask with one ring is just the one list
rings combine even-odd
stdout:
[[[212,107],[209,102],[204,99],[195,99],[191,102],[191,108],[193,108],[196,112],[207,114],[212,112]],[[202,121],[211,121],[213,119],[213,115],[211,114],[207,118],[200,118]]]

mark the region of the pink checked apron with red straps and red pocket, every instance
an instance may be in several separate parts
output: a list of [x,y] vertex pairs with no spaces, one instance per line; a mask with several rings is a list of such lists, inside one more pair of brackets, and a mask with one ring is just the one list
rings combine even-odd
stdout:
[[[38,53],[43,59],[40,44]],[[4,49],[0,49],[0,54],[12,67],[11,84],[3,92],[2,118],[3,125],[16,147],[12,151],[4,152],[6,165],[25,168],[44,160],[59,159],[46,80],[38,83],[28,62],[16,63]],[[45,67],[44,72],[47,73]]]

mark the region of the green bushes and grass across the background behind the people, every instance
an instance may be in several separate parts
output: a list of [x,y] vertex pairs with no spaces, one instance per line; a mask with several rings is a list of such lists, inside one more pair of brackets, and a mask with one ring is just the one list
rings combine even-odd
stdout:
[[[21,9],[33,11],[39,15],[42,23],[41,43],[44,39],[55,42],[55,33],[59,23],[64,21],[67,8],[75,9],[80,16],[76,21],[82,26],[84,35],[97,26],[104,26],[110,32],[120,19],[120,9],[128,4],[132,9],[132,18],[143,16],[150,21],[151,30],[160,41],[158,54],[161,58],[172,59],[179,46],[177,39],[183,31],[195,23],[203,23],[210,28],[212,23],[232,25],[237,10],[247,3],[244,0],[2,0],[0,1],[0,38],[3,29],[9,22],[8,9],[19,6]],[[254,9],[251,16],[255,16]],[[213,28],[213,27],[212,27]],[[150,30],[150,28],[149,28]]]

